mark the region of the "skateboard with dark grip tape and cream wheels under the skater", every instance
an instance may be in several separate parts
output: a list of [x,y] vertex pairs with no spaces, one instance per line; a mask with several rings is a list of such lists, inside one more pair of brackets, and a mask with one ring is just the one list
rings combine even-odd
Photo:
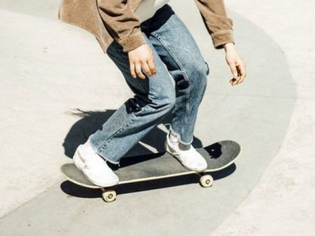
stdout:
[[[223,140],[206,147],[196,148],[196,150],[206,159],[208,164],[208,169],[202,172],[186,169],[168,152],[122,158],[120,168],[113,169],[119,177],[117,185],[196,173],[200,176],[200,185],[210,187],[214,179],[209,173],[232,165],[240,156],[241,146],[235,141]],[[91,183],[73,163],[64,164],[61,167],[61,172],[67,180],[77,185],[101,189],[105,202],[115,201],[117,196],[115,190]]]

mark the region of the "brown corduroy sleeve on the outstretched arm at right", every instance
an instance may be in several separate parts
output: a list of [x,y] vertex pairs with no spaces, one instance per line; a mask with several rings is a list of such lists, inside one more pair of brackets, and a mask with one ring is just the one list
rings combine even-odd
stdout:
[[194,0],[216,49],[234,42],[233,21],[226,16],[223,0]]

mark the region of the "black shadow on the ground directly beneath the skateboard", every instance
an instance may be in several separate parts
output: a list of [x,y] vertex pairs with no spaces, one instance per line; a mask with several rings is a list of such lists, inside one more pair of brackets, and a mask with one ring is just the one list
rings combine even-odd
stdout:
[[[211,175],[214,180],[218,180],[224,178],[230,174],[232,174],[236,170],[236,165],[232,164],[231,166],[212,172]],[[188,174],[174,177],[167,177],[163,179],[155,179],[149,181],[141,181],[135,183],[121,184],[110,187],[110,189],[114,189],[118,195],[120,194],[128,194],[134,192],[142,192],[148,190],[162,189],[175,187],[180,185],[187,184],[196,184],[199,183],[199,175],[197,174]],[[218,183],[214,182],[214,185]],[[68,195],[68,198],[77,197],[77,198],[101,198],[101,190],[100,189],[90,189],[86,187],[79,186],[74,184],[68,180],[61,183],[60,188],[62,191]]]

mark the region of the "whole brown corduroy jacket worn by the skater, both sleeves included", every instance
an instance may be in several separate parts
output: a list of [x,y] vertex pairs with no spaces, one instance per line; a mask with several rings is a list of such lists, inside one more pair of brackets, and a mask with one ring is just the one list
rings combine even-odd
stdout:
[[[146,43],[135,10],[142,0],[61,0],[58,19],[94,34],[104,53],[115,39],[124,52]],[[233,42],[223,0],[194,0],[215,48]]]

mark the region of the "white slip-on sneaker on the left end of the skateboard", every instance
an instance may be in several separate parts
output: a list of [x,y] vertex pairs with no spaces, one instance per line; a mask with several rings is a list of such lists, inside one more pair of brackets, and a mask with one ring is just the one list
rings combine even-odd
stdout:
[[89,142],[78,146],[73,156],[73,162],[85,177],[97,186],[108,187],[118,183],[118,176],[92,149]]

